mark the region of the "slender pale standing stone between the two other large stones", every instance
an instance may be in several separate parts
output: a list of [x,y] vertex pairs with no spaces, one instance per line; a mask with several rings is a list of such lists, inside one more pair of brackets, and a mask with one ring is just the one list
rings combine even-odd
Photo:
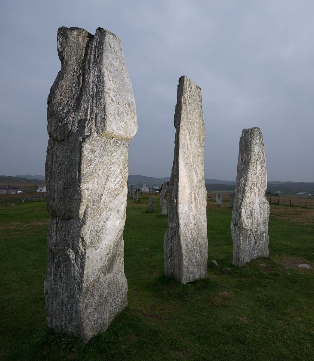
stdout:
[[179,79],[174,126],[165,275],[187,283],[207,277],[208,241],[202,96],[200,87],[185,76]]

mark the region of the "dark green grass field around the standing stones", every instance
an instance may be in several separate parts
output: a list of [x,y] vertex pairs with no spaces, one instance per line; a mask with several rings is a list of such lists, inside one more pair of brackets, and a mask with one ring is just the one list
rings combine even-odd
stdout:
[[148,198],[128,198],[129,306],[88,344],[45,329],[44,201],[0,208],[1,360],[314,360],[314,268],[297,266],[313,265],[313,209],[271,205],[270,258],[239,269],[232,209],[208,201],[209,277],[182,285],[163,275],[167,217]]

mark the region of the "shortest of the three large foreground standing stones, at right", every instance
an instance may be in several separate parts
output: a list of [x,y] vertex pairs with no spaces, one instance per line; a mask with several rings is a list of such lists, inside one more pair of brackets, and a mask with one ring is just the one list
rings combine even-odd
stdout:
[[239,145],[237,187],[232,210],[232,264],[243,266],[269,257],[267,188],[264,140],[260,128],[243,129]]

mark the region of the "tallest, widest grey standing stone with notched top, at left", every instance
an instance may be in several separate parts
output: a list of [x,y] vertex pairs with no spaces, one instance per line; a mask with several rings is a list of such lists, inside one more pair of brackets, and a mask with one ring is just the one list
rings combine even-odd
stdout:
[[47,326],[84,342],[127,305],[128,145],[137,131],[121,39],[61,27],[61,70],[48,96]]

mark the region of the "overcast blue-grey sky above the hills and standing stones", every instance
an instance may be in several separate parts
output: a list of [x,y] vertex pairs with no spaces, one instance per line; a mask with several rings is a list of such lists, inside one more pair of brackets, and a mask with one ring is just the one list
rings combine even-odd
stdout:
[[235,180],[243,128],[260,127],[269,181],[314,182],[314,2],[1,1],[0,174],[44,174],[57,28],[122,39],[138,133],[129,174],[168,177],[176,87],[201,87],[205,178]]

